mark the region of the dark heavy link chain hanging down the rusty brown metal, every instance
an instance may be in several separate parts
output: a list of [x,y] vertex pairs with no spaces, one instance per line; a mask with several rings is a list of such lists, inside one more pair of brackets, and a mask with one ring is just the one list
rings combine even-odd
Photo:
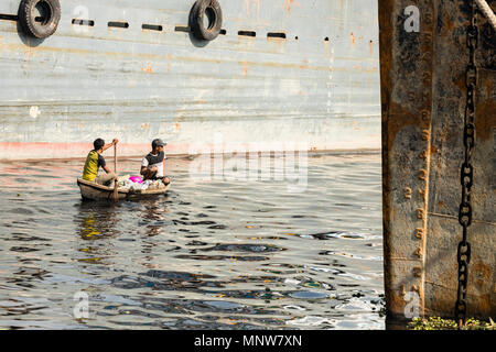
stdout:
[[468,0],[471,7],[471,24],[466,29],[466,45],[470,50],[470,62],[465,70],[466,107],[463,144],[465,161],[462,164],[461,184],[462,202],[460,205],[459,221],[463,227],[463,239],[459,244],[459,290],[455,306],[455,319],[459,328],[466,321],[466,284],[468,280],[468,263],[471,262],[471,244],[467,242],[467,228],[472,223],[471,189],[474,179],[474,167],[471,164],[472,150],[475,146],[475,94],[477,88],[477,66],[475,53],[478,45],[477,6],[475,0]]

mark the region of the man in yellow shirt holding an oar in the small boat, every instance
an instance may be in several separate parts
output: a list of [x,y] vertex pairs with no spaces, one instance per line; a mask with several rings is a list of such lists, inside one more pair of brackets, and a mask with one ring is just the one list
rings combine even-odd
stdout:
[[[116,145],[119,140],[115,139],[112,143],[105,144],[103,139],[97,139],[93,142],[94,150],[88,153],[86,157],[85,167],[83,169],[83,179],[95,182],[98,185],[114,187],[114,182],[116,179],[116,174],[114,174],[107,166],[104,156],[106,150]],[[98,168],[101,168],[107,173],[98,176]]]

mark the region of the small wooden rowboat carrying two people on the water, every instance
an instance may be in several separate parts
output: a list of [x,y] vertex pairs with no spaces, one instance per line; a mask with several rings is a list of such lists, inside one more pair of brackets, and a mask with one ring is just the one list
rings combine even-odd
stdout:
[[[77,185],[80,189],[80,195],[83,199],[86,200],[114,200],[114,187],[107,187],[103,185],[95,184],[89,180],[85,180],[82,178],[77,179]],[[149,189],[127,189],[127,188],[118,188],[118,198],[119,200],[127,199],[142,199],[152,196],[164,195],[171,184],[160,187],[160,188],[149,188]]]

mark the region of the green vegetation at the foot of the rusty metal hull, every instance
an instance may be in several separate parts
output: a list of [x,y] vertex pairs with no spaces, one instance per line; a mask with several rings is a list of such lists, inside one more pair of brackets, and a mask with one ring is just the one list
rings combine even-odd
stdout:
[[[457,330],[459,324],[454,320],[442,319],[439,317],[413,318],[408,323],[409,330]],[[489,321],[479,321],[467,319],[461,330],[496,330],[496,323],[489,318]]]

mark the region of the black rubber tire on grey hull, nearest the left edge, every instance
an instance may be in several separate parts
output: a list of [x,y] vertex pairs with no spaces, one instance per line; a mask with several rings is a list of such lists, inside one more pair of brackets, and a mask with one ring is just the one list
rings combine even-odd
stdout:
[[[36,22],[34,9],[37,3],[44,2],[48,10],[44,23]],[[45,38],[55,33],[61,20],[61,3],[58,0],[22,0],[19,7],[19,22],[24,33],[37,38]]]

